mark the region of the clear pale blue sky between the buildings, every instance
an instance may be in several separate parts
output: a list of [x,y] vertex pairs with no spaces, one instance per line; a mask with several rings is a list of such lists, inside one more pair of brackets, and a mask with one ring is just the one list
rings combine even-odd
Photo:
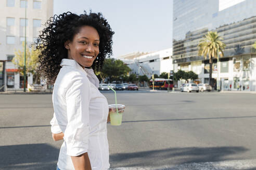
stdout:
[[54,14],[101,12],[113,36],[113,57],[172,47],[172,0],[54,0]]

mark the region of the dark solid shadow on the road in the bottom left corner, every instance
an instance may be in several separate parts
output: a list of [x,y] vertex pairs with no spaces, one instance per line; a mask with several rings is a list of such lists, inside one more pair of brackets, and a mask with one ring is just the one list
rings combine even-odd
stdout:
[[0,169],[56,169],[58,155],[47,144],[0,146]]

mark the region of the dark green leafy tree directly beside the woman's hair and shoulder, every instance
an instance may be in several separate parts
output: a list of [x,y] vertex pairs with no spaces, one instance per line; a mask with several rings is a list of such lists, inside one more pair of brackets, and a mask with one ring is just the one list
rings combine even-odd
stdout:
[[131,69],[125,65],[121,60],[105,59],[104,66],[100,71],[100,76],[104,80],[108,78],[110,82],[119,80],[121,77],[127,75]]

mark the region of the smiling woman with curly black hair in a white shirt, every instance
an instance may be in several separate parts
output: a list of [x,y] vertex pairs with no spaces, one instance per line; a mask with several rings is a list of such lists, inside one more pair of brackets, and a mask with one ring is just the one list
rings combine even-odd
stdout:
[[57,169],[109,168],[108,103],[93,69],[112,54],[113,34],[101,13],[67,12],[50,18],[37,38],[37,49],[42,49],[39,72],[54,83],[60,133],[53,137],[64,139]]

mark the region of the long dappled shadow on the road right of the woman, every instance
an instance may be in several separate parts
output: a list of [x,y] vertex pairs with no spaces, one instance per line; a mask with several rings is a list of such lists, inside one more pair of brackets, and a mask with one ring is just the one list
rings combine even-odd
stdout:
[[[232,160],[229,155],[248,151],[245,147],[167,148],[110,155],[110,167],[162,166]],[[153,158],[153,159],[152,159]],[[152,160],[155,160],[152,162]]]

